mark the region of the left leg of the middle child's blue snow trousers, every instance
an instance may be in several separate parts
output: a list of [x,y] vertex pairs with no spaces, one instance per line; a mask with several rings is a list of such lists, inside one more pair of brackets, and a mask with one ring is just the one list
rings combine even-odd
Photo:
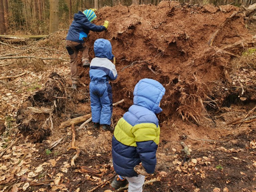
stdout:
[[91,110],[92,110],[92,122],[100,122],[100,113],[101,113],[101,102],[100,102],[100,93],[97,89],[97,84],[90,82],[90,100],[91,100]]

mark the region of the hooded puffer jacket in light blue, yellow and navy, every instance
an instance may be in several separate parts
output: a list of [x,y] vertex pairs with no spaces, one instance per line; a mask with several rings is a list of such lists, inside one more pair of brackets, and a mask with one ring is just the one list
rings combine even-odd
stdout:
[[118,175],[134,177],[133,170],[142,162],[148,173],[154,173],[160,127],[155,114],[165,88],[156,80],[142,79],[134,88],[133,105],[118,121],[112,138],[113,166]]

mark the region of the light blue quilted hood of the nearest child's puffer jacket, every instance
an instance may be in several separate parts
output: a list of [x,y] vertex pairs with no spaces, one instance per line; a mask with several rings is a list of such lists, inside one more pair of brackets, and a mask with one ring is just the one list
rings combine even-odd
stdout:
[[145,107],[157,114],[162,111],[159,103],[164,94],[165,88],[161,83],[153,79],[142,79],[134,88],[133,104]]

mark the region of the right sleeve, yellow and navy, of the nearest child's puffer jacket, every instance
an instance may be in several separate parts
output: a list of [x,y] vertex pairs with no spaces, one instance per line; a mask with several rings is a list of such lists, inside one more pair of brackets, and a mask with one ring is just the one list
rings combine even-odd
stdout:
[[[151,117],[152,119],[152,117]],[[147,173],[154,173],[156,167],[157,137],[156,124],[140,123],[133,127],[133,134],[137,144],[137,152]]]

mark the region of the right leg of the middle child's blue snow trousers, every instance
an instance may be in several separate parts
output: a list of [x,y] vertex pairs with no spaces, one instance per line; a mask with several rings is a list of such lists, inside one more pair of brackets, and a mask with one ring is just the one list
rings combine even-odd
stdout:
[[102,105],[101,114],[100,114],[100,124],[110,125],[110,120],[113,112],[112,104],[112,87],[106,82],[102,86],[102,94],[100,96],[100,102]]

